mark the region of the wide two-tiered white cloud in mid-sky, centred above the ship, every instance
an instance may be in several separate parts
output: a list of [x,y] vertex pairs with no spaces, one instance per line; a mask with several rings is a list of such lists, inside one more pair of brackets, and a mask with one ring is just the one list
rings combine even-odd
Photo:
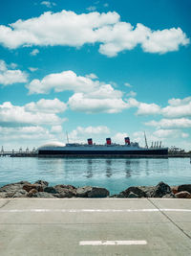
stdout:
[[48,93],[74,91],[68,105],[72,110],[86,113],[106,112],[117,113],[127,108],[122,100],[123,93],[96,80],[95,74],[85,77],[77,76],[73,71],[63,71],[44,77],[41,81],[33,80],[27,87],[30,93]]

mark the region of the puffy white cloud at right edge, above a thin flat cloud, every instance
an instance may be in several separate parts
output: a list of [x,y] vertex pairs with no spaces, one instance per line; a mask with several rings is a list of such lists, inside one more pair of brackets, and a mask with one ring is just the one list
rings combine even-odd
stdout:
[[168,118],[191,116],[191,97],[180,99],[171,99],[169,105],[162,108],[162,114]]

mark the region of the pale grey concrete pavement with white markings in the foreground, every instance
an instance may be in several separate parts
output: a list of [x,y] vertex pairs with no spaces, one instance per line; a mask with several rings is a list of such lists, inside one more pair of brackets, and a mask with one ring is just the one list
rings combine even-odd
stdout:
[[0,199],[0,255],[191,255],[191,199]]

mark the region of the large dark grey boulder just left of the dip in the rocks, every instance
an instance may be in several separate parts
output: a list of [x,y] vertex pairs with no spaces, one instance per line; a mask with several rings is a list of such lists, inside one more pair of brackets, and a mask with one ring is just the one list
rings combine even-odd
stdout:
[[109,195],[105,188],[85,186],[76,190],[76,196],[79,198],[107,198]]

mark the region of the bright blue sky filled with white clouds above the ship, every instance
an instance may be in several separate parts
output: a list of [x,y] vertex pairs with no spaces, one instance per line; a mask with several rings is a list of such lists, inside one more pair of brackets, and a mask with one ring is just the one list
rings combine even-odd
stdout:
[[190,0],[1,0],[0,146],[191,150]]

